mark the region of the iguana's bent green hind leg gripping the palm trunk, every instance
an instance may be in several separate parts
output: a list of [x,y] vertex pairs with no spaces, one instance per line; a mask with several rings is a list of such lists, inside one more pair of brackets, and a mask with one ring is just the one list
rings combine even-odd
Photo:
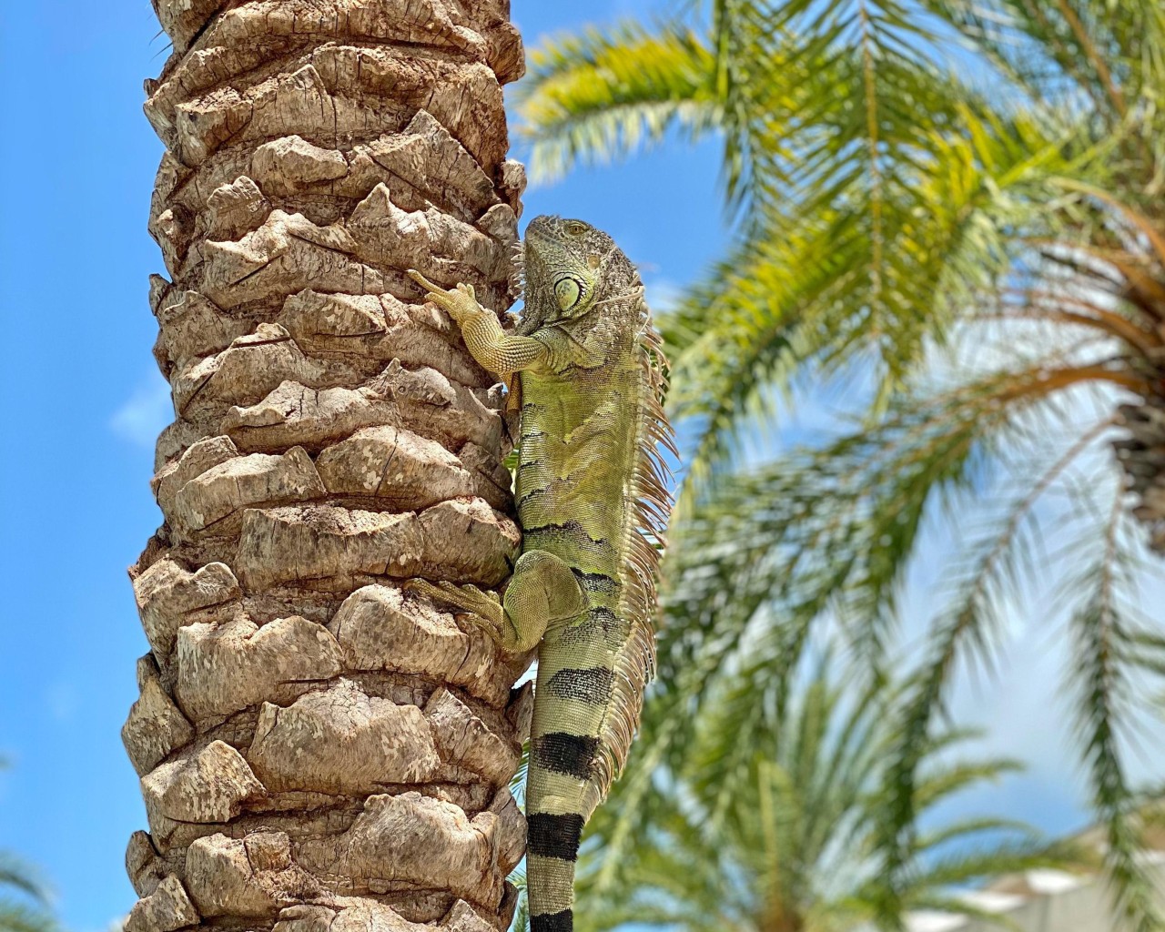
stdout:
[[510,654],[536,647],[546,628],[578,617],[587,607],[586,594],[571,567],[544,550],[518,557],[501,602],[476,586],[412,579],[405,587],[475,615],[473,623]]

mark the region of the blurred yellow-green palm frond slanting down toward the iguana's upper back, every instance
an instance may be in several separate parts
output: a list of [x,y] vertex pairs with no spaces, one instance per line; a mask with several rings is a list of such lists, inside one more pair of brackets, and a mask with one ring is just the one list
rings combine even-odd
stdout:
[[942,343],[947,327],[998,287],[1017,257],[1016,231],[1050,232],[1053,176],[1067,167],[1058,143],[1035,123],[952,107],[972,130],[930,134],[926,154],[901,169],[902,196],[882,204],[888,255],[877,302],[864,191],[850,205],[806,209],[779,235],[741,246],[663,322],[678,350],[673,416],[692,426],[687,494],[740,460],[740,438],[772,419],[797,375],[828,377],[860,362],[876,397],[888,400],[927,359],[931,341]]

